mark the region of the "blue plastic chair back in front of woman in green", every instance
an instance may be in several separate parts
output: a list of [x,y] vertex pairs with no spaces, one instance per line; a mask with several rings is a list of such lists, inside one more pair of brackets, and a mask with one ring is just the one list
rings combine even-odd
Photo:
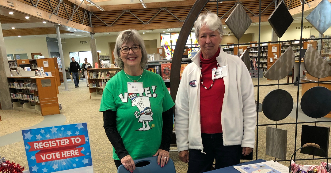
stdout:
[[[168,163],[162,168],[158,165],[157,159],[158,156],[133,160],[136,165],[136,169],[133,173],[176,173],[175,165],[171,158],[169,158]],[[130,173],[130,171],[126,170],[123,165],[120,165],[117,173]]]

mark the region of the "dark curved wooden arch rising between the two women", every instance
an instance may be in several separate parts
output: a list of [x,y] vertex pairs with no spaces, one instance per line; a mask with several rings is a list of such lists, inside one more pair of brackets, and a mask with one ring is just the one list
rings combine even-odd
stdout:
[[191,33],[195,20],[198,18],[208,1],[209,0],[197,0],[194,3],[185,19],[182,29],[179,32],[179,36],[176,42],[176,48],[172,56],[170,73],[170,93],[174,102],[176,100],[176,95],[179,87],[180,65],[182,62],[182,56],[185,49],[186,41]]

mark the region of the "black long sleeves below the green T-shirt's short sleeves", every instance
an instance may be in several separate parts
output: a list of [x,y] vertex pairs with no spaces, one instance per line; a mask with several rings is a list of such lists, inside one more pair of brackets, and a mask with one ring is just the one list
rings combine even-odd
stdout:
[[[115,153],[118,158],[121,160],[123,157],[130,155],[122,141],[122,137],[119,135],[117,127],[116,127],[116,111],[103,111],[104,115],[104,128],[106,131],[106,135],[112,143]],[[162,113],[162,139],[161,145],[159,149],[169,151],[170,143],[171,143],[171,134],[172,134],[172,108]]]

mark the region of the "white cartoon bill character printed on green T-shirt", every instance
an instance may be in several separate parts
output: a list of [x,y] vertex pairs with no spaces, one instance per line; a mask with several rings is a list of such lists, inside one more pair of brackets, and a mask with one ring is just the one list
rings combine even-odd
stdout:
[[137,94],[135,93],[129,93],[128,97],[132,102],[131,106],[137,106],[137,108],[139,109],[139,112],[134,112],[134,116],[136,116],[136,118],[139,118],[138,122],[141,122],[143,127],[139,128],[137,131],[146,131],[151,129],[148,123],[153,121],[153,112],[151,109],[149,97],[137,96]]

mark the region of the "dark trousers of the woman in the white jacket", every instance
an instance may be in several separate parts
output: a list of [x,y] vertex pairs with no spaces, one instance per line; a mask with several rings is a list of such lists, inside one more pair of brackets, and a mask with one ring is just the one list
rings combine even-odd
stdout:
[[241,145],[223,146],[223,133],[202,133],[201,150],[189,149],[189,162],[187,173],[202,173],[211,170],[215,159],[215,169],[220,169],[240,163],[242,155]]

